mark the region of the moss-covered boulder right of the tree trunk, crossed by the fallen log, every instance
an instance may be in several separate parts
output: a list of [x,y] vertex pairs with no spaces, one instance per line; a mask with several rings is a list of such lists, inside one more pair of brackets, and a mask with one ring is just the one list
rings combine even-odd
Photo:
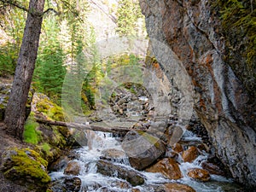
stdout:
[[32,113],[26,120],[24,138],[26,143],[36,144],[34,149],[50,164],[60,157],[61,149],[73,145],[74,139],[67,127],[38,124],[37,118],[65,121],[67,117],[62,108],[48,96],[42,93],[33,95]]

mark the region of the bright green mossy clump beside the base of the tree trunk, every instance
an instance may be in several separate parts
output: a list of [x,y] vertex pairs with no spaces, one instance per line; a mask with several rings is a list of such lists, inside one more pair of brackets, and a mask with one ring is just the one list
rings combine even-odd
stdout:
[[37,131],[39,124],[34,120],[33,114],[26,119],[26,124],[23,132],[24,141],[26,143],[38,144],[41,140],[41,132]]

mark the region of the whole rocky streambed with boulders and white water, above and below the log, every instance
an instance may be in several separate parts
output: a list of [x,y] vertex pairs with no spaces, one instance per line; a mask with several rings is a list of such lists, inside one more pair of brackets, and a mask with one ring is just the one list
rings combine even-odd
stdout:
[[243,191],[228,178],[195,117],[183,125],[175,113],[166,119],[154,116],[150,96],[125,86],[113,92],[111,113],[102,115],[102,110],[89,122],[132,124],[144,131],[84,131],[84,146],[50,166],[52,191]]

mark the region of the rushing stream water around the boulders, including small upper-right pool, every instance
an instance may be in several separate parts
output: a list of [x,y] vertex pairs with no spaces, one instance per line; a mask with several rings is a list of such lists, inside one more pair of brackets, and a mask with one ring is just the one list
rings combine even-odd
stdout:
[[[184,141],[190,142],[200,142],[200,138],[195,137],[191,132],[184,134]],[[216,191],[241,191],[238,189],[236,184],[232,182],[231,179],[211,175],[211,180],[209,182],[196,182],[192,178],[188,177],[186,172],[189,168],[201,167],[201,162],[207,160],[207,153],[201,154],[197,157],[193,163],[183,162],[181,157],[177,158],[179,161],[180,170],[183,173],[183,177],[178,180],[170,180],[163,177],[160,173],[150,173],[150,172],[140,172],[145,178],[145,183],[143,185],[138,185],[132,187],[130,183],[127,183],[124,179],[116,177],[117,174],[113,174],[113,177],[103,176],[101,173],[97,172],[96,162],[102,159],[104,151],[111,149],[116,149],[117,151],[122,151],[121,145],[119,143],[118,137],[113,137],[112,134],[106,134],[101,132],[96,132],[90,146],[84,146],[83,148],[74,149],[74,156],[76,157],[73,162],[79,164],[79,174],[76,177],[80,178],[81,183],[79,183],[78,189],[73,189],[73,191],[163,191],[158,190],[156,186],[163,183],[185,183],[191,186],[196,191],[205,192],[216,192]],[[125,155],[119,156],[119,158],[113,159],[113,164],[117,166],[127,167],[129,170],[133,168],[129,164],[128,157]],[[67,175],[64,173],[66,166],[63,166],[58,172],[51,172],[50,177],[53,183],[62,183],[65,177],[73,177],[72,175]],[[139,190],[136,190],[139,189]],[[61,189],[55,188],[54,191],[61,191]],[[68,190],[67,190],[68,191]]]

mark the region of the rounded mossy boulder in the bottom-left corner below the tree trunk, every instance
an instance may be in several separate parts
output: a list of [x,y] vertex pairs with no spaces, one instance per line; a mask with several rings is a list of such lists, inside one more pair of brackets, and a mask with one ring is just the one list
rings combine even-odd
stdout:
[[48,162],[30,148],[8,148],[2,154],[4,177],[28,189],[45,191],[50,182]]

